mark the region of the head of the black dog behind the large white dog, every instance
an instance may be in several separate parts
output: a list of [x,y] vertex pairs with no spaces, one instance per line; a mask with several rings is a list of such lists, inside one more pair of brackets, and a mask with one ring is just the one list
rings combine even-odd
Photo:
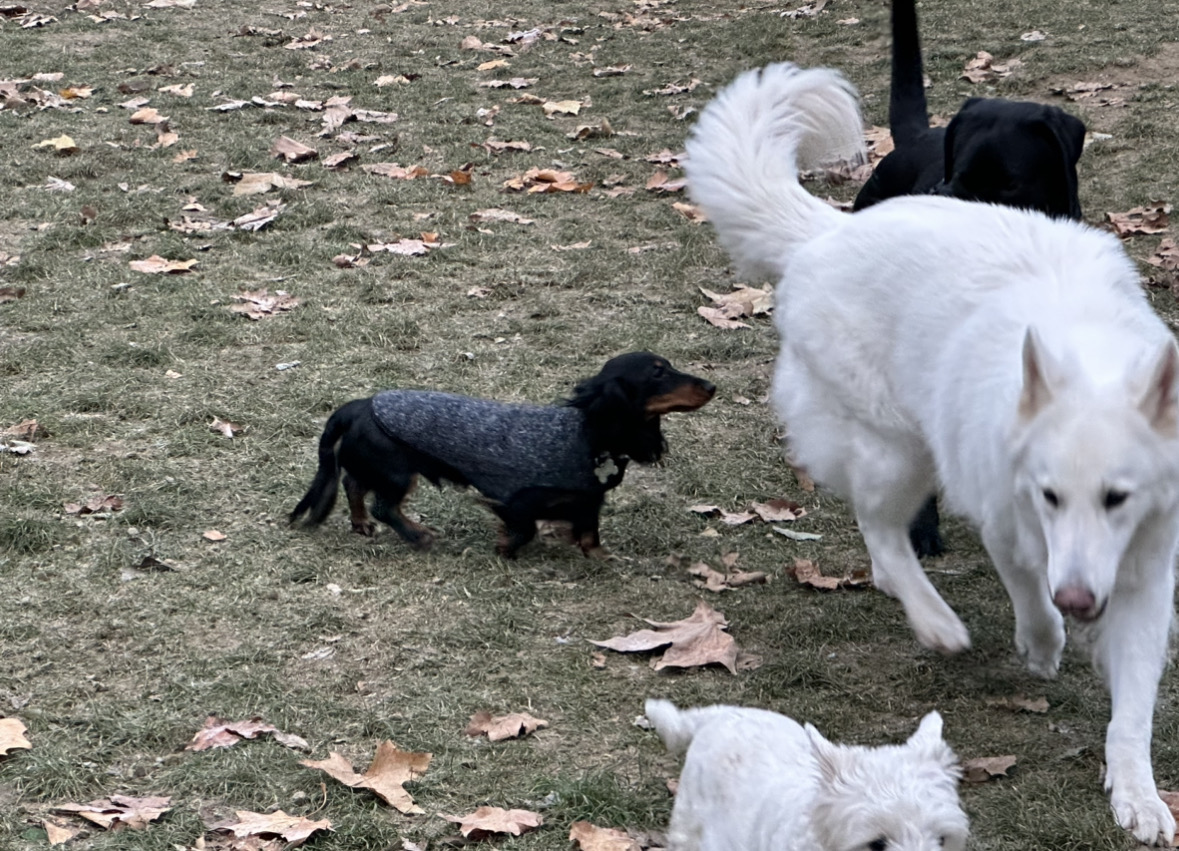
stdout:
[[1079,219],[1084,144],[1085,124],[1055,106],[970,98],[946,130],[938,193]]

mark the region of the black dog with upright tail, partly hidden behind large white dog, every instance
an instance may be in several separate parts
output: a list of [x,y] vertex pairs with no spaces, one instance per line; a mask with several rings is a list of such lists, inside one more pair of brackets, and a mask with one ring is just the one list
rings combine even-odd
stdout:
[[[1081,218],[1076,160],[1085,124],[1055,106],[970,98],[949,127],[930,127],[914,0],[893,2],[893,83],[889,131],[895,150],[856,196],[863,210],[903,194],[948,194],[964,200]],[[930,496],[909,528],[917,555],[944,550]]]

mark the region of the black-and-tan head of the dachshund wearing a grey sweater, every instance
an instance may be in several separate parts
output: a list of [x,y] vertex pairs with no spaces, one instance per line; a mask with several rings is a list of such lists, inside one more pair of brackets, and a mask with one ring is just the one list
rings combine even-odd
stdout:
[[595,453],[658,461],[666,449],[659,417],[707,404],[717,388],[672,368],[667,358],[632,351],[606,362],[601,371],[573,389],[566,404],[585,411]]

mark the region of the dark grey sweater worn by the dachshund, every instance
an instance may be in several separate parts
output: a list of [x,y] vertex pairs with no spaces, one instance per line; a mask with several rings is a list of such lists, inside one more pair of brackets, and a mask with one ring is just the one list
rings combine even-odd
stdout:
[[523,488],[605,490],[625,468],[620,460],[591,457],[577,408],[386,390],[373,397],[373,414],[387,435],[455,468],[498,502]]

